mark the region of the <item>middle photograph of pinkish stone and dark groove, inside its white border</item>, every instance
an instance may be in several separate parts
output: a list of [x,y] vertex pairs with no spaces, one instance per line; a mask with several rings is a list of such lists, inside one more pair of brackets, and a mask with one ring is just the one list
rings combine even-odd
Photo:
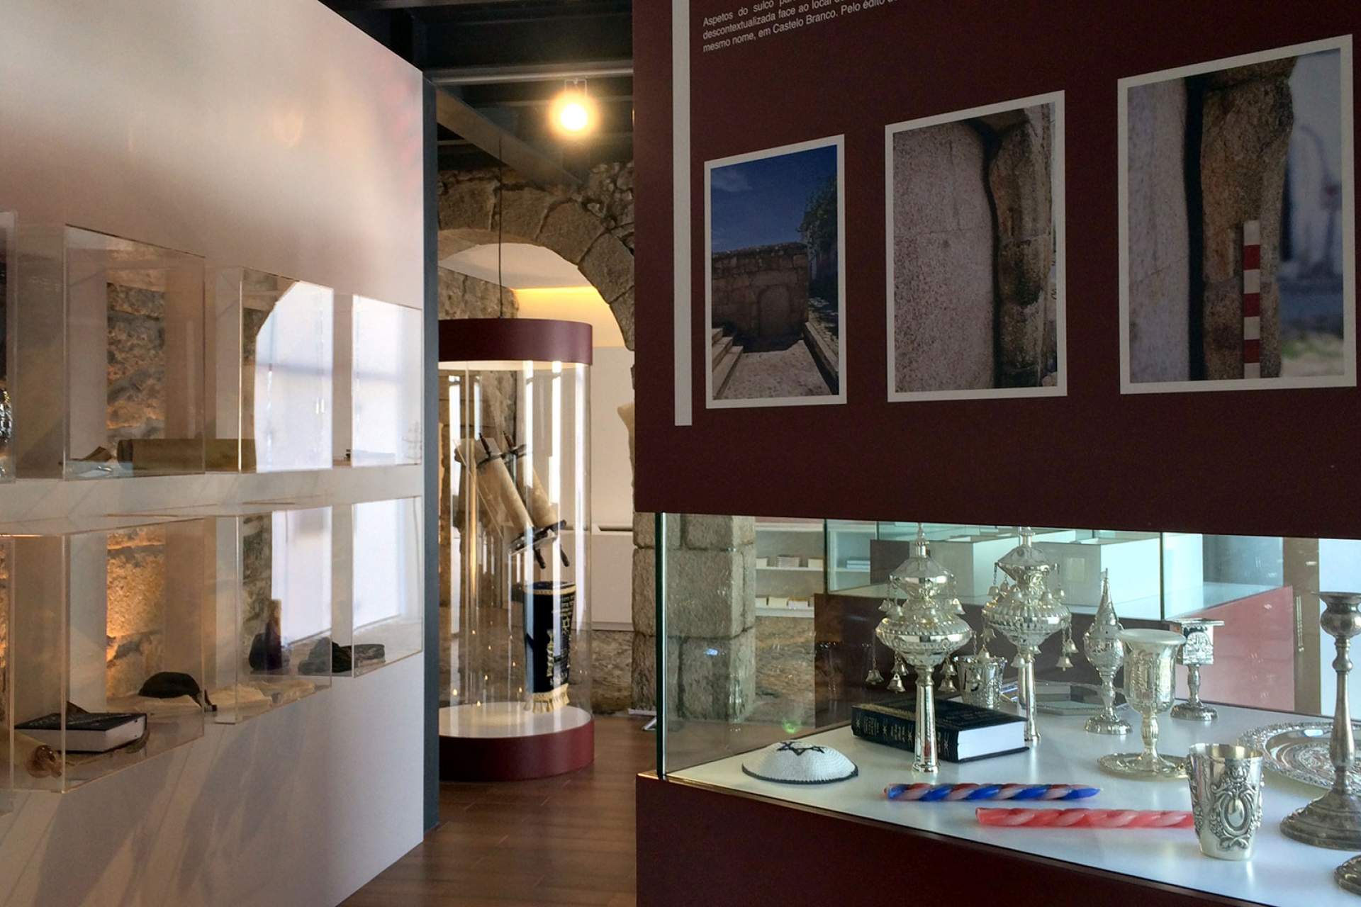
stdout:
[[893,135],[890,398],[1060,385],[1056,116],[1051,102]]

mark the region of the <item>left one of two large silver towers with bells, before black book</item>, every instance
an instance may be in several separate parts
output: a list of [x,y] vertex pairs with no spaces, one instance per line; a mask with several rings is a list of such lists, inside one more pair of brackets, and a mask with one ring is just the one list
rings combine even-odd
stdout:
[[927,553],[927,537],[919,525],[912,555],[889,575],[889,598],[879,606],[885,617],[874,631],[896,658],[917,672],[912,768],[921,772],[938,768],[931,672],[973,635],[957,613],[960,602],[943,594],[949,582],[950,572]]

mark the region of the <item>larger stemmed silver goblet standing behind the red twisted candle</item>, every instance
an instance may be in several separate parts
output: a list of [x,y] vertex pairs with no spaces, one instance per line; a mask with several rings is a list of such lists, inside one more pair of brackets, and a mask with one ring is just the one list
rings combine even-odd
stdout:
[[1166,630],[1126,630],[1124,699],[1143,715],[1143,752],[1111,753],[1098,763],[1127,778],[1185,778],[1185,759],[1158,753],[1158,715],[1172,708],[1173,655],[1185,639]]

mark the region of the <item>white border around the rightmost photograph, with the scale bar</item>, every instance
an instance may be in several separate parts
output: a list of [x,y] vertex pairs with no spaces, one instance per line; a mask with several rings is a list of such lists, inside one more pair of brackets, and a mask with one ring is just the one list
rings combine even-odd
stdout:
[[[1268,63],[1281,57],[1301,57],[1311,53],[1338,50],[1341,56],[1342,80],[1342,354],[1341,375],[1313,375],[1297,378],[1229,378],[1206,381],[1131,381],[1130,379],[1130,88],[1161,82],[1172,82],[1206,72],[1218,72],[1233,67],[1255,63]],[[1237,57],[1209,60],[1172,69],[1160,69],[1138,76],[1126,76],[1116,83],[1119,121],[1116,126],[1116,147],[1119,151],[1119,237],[1120,237],[1120,393],[1194,393],[1209,390],[1282,390],[1292,388],[1354,388],[1357,383],[1356,363],[1356,199],[1351,159],[1351,35],[1339,35],[1273,48]]]

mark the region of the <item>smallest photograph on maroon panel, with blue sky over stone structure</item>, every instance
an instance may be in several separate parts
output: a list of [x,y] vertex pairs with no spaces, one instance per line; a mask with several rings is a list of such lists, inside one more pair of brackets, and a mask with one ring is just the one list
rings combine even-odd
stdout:
[[840,394],[838,154],[826,144],[710,166],[709,392],[719,405]]

